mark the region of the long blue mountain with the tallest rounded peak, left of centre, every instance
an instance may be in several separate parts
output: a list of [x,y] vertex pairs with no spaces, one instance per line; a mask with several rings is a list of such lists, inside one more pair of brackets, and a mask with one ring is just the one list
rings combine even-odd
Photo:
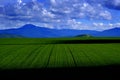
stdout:
[[48,37],[72,37],[80,34],[95,34],[97,31],[73,30],[73,29],[49,29],[44,27],[26,24],[21,28],[0,30],[0,34],[21,35],[28,38],[48,38]]

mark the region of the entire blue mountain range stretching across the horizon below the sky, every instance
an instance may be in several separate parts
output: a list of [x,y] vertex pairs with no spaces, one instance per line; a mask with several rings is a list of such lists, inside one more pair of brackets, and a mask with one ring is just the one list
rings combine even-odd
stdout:
[[113,28],[105,31],[73,30],[73,29],[50,29],[26,24],[17,29],[0,30],[0,38],[58,38],[74,37],[77,35],[89,34],[95,37],[120,37],[120,28]]

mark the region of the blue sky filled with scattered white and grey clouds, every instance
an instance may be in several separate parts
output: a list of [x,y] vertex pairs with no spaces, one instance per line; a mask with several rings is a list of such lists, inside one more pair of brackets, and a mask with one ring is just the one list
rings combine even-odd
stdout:
[[0,29],[25,24],[97,31],[120,27],[120,0],[0,0]]

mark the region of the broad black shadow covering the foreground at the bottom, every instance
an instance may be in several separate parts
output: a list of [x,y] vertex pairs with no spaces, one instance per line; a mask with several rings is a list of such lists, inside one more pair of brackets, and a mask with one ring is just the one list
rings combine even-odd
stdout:
[[115,78],[120,78],[119,74],[120,65],[99,67],[0,70],[0,78],[3,80],[114,80]]

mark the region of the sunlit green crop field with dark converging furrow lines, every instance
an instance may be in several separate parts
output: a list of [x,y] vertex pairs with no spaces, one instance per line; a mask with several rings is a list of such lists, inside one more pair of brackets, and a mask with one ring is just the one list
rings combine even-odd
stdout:
[[[76,40],[77,44],[74,43]],[[0,39],[0,69],[120,64],[120,43],[79,43],[84,40],[97,40],[97,38]],[[99,40],[113,39],[101,38]],[[66,44],[67,41],[70,43]]]

